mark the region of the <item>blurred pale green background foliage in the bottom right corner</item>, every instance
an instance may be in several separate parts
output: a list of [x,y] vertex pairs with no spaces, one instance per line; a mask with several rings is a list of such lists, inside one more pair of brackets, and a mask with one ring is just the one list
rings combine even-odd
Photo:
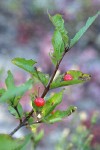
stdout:
[[[94,121],[92,121],[94,120]],[[71,132],[69,128],[65,128],[62,135],[55,145],[55,150],[91,150],[94,149],[94,146],[91,145],[94,135],[92,129],[97,122],[96,113],[91,118],[90,128],[82,123],[81,117],[77,114],[77,118],[73,119],[75,124],[78,123],[76,129]],[[72,125],[72,128],[75,128],[75,124]],[[99,145],[98,145],[99,146]]]

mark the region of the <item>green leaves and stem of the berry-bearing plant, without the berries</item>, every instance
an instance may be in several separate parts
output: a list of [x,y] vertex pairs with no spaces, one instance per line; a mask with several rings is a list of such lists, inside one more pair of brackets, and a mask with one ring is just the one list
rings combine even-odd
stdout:
[[[98,17],[99,13],[88,19],[86,25],[80,29],[80,31],[75,35],[73,39],[69,39],[68,31],[64,27],[64,20],[60,14],[56,14],[49,18],[55,27],[55,31],[52,37],[53,52],[50,53],[50,58],[55,66],[55,70],[51,77],[48,74],[40,72],[34,65],[35,60],[26,60],[25,58],[14,58],[12,63],[16,66],[24,69],[31,74],[31,77],[23,85],[16,86],[14,83],[14,77],[11,71],[8,71],[8,76],[5,79],[6,89],[0,89],[0,103],[7,103],[9,112],[19,120],[18,127],[13,130],[10,135],[0,135],[0,147],[1,149],[24,149],[28,141],[33,140],[34,147],[39,142],[43,136],[41,131],[38,135],[29,135],[24,138],[24,140],[13,139],[11,136],[17,132],[21,127],[28,126],[32,127],[34,124],[38,123],[55,123],[62,121],[63,118],[68,117],[76,111],[76,106],[69,106],[66,110],[56,110],[53,114],[52,111],[61,104],[63,100],[63,90],[59,93],[54,93],[53,96],[49,96],[43,107],[37,107],[34,105],[35,97],[38,97],[36,93],[30,94],[30,100],[32,102],[32,110],[30,112],[24,112],[20,104],[20,100],[26,91],[30,91],[35,85],[35,79],[44,85],[44,92],[41,98],[46,99],[46,94],[51,90],[63,86],[69,86],[78,83],[84,83],[90,80],[90,75],[81,72],[80,70],[69,70],[64,74],[59,75],[56,79],[54,78],[59,65],[64,57],[64,55],[70,50],[70,48],[83,36],[84,32],[90,27],[90,25]],[[63,77],[65,74],[70,74],[73,79],[70,81],[64,81]],[[34,117],[33,117],[34,116]],[[5,142],[6,141],[6,142]],[[5,143],[5,144],[4,144]]]

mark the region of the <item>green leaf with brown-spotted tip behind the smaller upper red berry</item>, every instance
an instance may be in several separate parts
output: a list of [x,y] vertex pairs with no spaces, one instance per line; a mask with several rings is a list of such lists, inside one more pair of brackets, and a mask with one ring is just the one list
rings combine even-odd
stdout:
[[59,88],[62,86],[69,86],[73,84],[84,83],[91,79],[89,74],[82,73],[81,71],[77,70],[69,70],[66,74],[70,74],[73,77],[73,80],[64,81],[64,75],[60,75],[56,80],[54,80],[50,86],[50,89]]

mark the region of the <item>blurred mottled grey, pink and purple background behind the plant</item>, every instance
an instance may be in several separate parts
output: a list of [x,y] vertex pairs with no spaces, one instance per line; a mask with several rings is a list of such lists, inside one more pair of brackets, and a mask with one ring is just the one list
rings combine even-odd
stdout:
[[[69,37],[72,38],[99,8],[100,0],[0,0],[0,87],[5,86],[7,70],[12,71],[17,85],[29,77],[11,63],[14,57],[34,59],[41,71],[52,73],[54,66],[49,59],[49,51],[52,49],[54,27],[47,11],[52,15],[62,14]],[[55,125],[41,125],[45,134],[37,150],[53,150],[63,131],[70,136],[80,123],[89,128],[91,116],[95,112],[100,113],[100,18],[96,19],[78,44],[64,57],[60,71],[69,69],[89,73],[92,79],[83,85],[66,87],[60,109],[75,105],[78,107],[77,113]],[[21,101],[26,111],[30,109],[28,101],[27,95]],[[17,120],[7,111],[7,106],[0,104],[0,132],[9,133],[17,124]],[[23,128],[15,137],[28,132],[28,129]],[[94,138],[91,150],[96,150],[95,145],[100,144],[99,115],[92,134]],[[66,142],[67,140],[68,136]]]

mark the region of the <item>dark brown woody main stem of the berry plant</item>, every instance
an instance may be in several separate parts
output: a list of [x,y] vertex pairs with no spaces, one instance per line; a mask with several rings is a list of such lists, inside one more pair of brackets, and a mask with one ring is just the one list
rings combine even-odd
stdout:
[[[57,63],[57,65],[56,65],[56,67],[55,67],[55,70],[54,70],[54,72],[53,72],[53,74],[52,74],[52,76],[51,76],[50,81],[48,82],[47,86],[46,86],[45,89],[44,89],[44,92],[43,92],[43,94],[42,94],[42,96],[41,96],[42,98],[48,93],[48,91],[49,91],[49,89],[50,89],[50,85],[51,85],[51,83],[52,83],[52,81],[53,81],[53,79],[54,79],[54,77],[55,77],[55,75],[56,75],[56,72],[57,72],[59,66],[60,66],[60,63],[61,63],[63,57],[65,56],[65,54],[66,54],[68,51],[69,51],[69,48],[65,48],[64,53],[62,54],[61,59],[59,60],[59,62]],[[27,124],[27,121],[28,121],[28,119],[32,116],[33,112],[34,112],[34,110],[32,109],[32,110],[30,111],[29,115],[28,115],[27,117],[25,117],[25,119],[24,119],[22,122],[20,121],[20,124],[10,133],[11,136],[12,136],[15,132],[17,132],[21,127],[28,125],[28,124]],[[33,124],[38,124],[38,123],[41,123],[41,121],[33,122]]]

